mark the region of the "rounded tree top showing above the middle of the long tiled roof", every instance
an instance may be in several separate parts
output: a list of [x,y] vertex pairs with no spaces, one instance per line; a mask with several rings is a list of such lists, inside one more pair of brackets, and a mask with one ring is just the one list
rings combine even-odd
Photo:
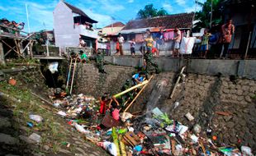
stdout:
[[154,16],[165,16],[168,15],[168,12],[161,8],[159,11],[154,8],[153,4],[148,4],[144,9],[140,9],[137,13],[137,19],[144,19]]

